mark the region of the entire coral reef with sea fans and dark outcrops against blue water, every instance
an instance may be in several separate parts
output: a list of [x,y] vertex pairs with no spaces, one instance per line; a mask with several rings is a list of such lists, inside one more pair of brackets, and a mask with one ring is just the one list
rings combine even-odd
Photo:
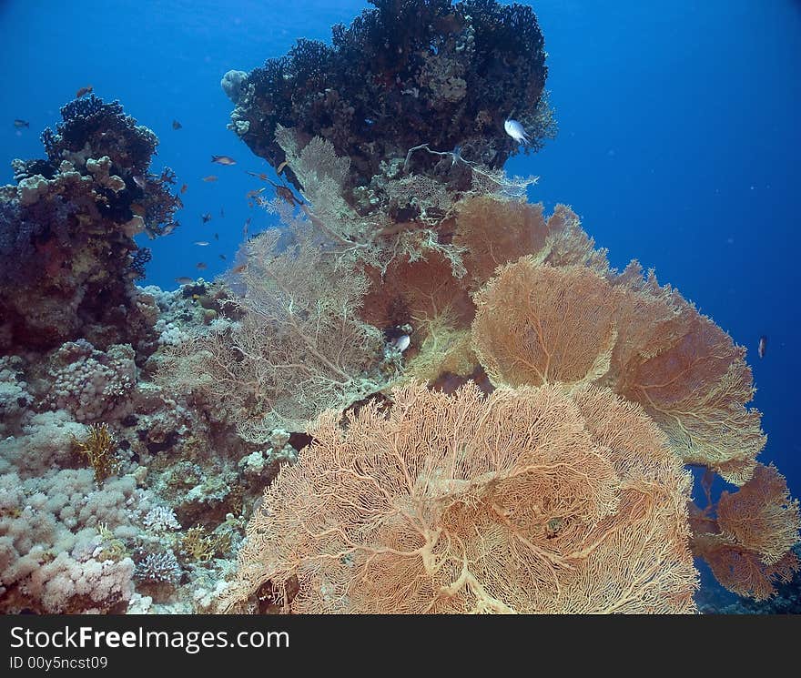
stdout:
[[776,595],[745,350],[503,172],[555,133],[532,9],[373,4],[223,77],[276,226],[212,282],[137,286],[181,200],[116,101],[14,161],[0,609],[696,612],[698,559]]

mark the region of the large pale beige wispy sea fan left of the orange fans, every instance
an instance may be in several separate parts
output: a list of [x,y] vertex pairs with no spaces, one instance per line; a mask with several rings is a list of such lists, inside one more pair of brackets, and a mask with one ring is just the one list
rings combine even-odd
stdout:
[[278,230],[250,241],[237,301],[244,317],[179,345],[162,370],[165,383],[210,394],[254,442],[277,428],[303,430],[320,411],[383,385],[380,332],[357,315],[366,279],[337,268],[308,226],[294,235],[283,250]]

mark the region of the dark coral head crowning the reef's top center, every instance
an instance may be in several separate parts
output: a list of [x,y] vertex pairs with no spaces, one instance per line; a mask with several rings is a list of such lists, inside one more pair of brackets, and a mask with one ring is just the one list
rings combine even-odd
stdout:
[[[331,46],[299,40],[246,77],[236,71],[223,79],[237,105],[230,127],[256,155],[273,167],[286,159],[275,139],[279,125],[294,127],[301,147],[312,137],[330,141],[350,158],[346,198],[355,205],[350,191],[368,187],[382,165],[421,142],[437,151],[461,147],[471,161],[500,168],[518,150],[503,132],[506,117],[529,131],[526,152],[553,136],[542,33],[531,7],[494,0],[372,5],[350,27],[334,26]],[[447,183],[463,167],[420,154],[410,169]],[[285,173],[300,187],[299,177]]]

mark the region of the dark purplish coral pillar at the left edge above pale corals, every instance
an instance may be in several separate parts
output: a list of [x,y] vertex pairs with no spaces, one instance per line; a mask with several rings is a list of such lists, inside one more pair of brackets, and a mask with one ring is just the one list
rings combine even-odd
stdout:
[[175,228],[174,177],[148,174],[157,139],[117,102],[93,95],[61,115],[47,159],[15,160],[16,186],[0,187],[0,353],[83,338],[144,359],[157,311],[134,285],[149,257],[134,236]]

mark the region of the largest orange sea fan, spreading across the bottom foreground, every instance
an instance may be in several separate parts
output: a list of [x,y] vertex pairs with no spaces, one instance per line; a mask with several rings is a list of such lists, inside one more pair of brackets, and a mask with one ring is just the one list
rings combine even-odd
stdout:
[[694,610],[688,475],[637,406],[393,395],[344,430],[320,417],[248,526],[228,609],[268,585],[294,612]]

